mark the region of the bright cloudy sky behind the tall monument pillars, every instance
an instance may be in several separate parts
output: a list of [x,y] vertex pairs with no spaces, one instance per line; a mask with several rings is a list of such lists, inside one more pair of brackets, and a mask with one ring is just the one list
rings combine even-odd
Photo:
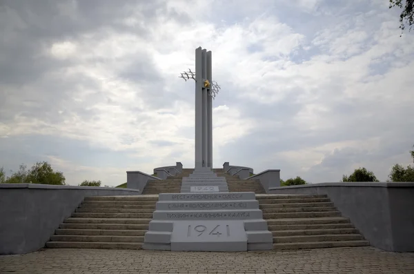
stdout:
[[[414,32],[388,0],[0,0],[0,166],[68,184],[194,166],[195,48],[213,162],[339,182],[411,162]],[[8,172],[10,175],[10,172]]]

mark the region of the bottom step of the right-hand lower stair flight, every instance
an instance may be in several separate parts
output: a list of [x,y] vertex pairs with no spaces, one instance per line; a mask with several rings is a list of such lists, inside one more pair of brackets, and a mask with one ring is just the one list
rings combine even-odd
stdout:
[[297,242],[273,244],[273,250],[294,250],[308,248],[328,248],[328,247],[351,247],[351,246],[369,246],[365,240],[357,241],[334,241],[334,242]]

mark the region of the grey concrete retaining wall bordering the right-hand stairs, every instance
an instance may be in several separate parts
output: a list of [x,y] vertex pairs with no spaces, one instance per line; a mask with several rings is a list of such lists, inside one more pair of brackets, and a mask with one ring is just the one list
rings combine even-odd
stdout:
[[269,188],[274,194],[326,194],[371,246],[414,251],[414,182],[322,183]]

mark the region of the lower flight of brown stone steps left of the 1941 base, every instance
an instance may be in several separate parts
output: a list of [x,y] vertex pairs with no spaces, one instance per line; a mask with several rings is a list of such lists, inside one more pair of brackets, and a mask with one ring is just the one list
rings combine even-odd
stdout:
[[141,249],[158,195],[86,197],[48,248]]

